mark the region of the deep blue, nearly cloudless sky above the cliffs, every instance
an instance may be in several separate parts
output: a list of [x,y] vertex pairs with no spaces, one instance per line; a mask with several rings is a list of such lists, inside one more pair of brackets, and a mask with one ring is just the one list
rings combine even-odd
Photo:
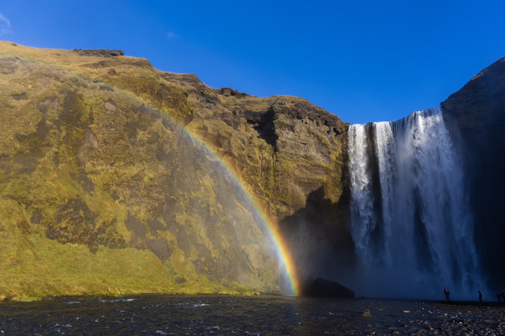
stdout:
[[349,123],[439,106],[505,56],[505,1],[0,2],[0,40],[111,48]]

